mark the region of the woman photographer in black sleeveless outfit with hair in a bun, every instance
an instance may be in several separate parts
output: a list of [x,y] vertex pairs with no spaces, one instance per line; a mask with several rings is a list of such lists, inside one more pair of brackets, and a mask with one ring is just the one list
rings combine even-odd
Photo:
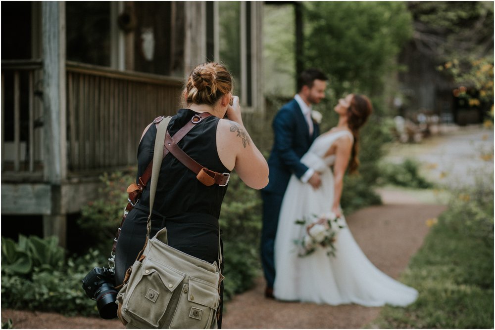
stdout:
[[[232,88],[232,76],[223,65],[212,62],[198,65],[184,89],[187,107],[172,117],[168,132],[173,138],[195,115],[211,114],[196,124],[178,146],[202,166],[219,173],[230,173],[235,169],[247,186],[261,189],[268,183],[268,165],[244,127],[239,98],[232,96]],[[137,180],[152,160],[156,131],[156,126],[151,123],[143,132],[138,148]],[[118,238],[116,284],[122,283],[126,270],[145,243],[148,186],[127,215]],[[204,185],[198,181],[196,173],[168,153],[158,177],[150,237],[166,227],[169,246],[210,263],[215,262],[218,257],[218,218],[227,187]],[[222,306],[219,308],[220,328]]]

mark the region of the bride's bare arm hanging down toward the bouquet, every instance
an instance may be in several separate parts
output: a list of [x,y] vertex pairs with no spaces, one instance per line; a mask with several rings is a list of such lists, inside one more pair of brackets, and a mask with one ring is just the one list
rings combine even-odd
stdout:
[[340,199],[344,186],[344,174],[346,173],[352,149],[352,141],[347,136],[343,136],[335,141],[334,145],[336,145],[336,158],[334,164],[334,201],[332,204],[332,212],[337,216],[341,216]]

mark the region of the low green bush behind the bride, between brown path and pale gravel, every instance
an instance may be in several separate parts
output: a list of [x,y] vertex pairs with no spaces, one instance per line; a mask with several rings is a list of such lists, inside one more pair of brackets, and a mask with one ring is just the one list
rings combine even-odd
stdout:
[[419,163],[406,159],[402,164],[387,164],[382,166],[382,183],[389,183],[410,188],[431,188],[433,184],[419,173]]

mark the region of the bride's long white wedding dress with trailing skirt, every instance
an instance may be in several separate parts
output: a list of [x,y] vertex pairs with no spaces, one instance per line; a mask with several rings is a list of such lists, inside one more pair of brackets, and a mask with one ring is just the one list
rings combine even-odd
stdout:
[[324,157],[334,141],[350,137],[347,130],[320,135],[301,162],[321,173],[321,186],[313,190],[292,175],[282,207],[275,239],[276,277],[274,295],[279,300],[326,303],[356,303],[363,306],[406,306],[416,300],[416,289],[407,287],[376,268],[361,251],[345,224],[337,234],[335,256],[317,248],[308,256],[297,256],[304,226],[296,219],[330,212],[334,198],[334,177],[330,165],[335,156]]

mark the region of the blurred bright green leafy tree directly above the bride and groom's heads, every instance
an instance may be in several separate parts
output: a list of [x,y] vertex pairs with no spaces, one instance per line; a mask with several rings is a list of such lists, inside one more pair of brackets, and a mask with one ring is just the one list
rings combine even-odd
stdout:
[[[397,70],[396,55],[412,36],[402,2],[305,1],[305,67],[330,77],[333,97],[359,92],[381,97]],[[382,102],[380,102],[382,103]]]

